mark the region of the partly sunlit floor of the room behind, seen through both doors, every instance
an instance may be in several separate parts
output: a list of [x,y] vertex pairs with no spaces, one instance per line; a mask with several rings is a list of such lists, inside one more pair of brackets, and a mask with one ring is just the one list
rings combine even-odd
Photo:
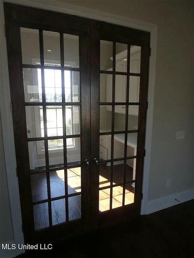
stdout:
[[[99,187],[110,186],[110,166],[100,164]],[[133,169],[126,166],[127,181],[132,180]],[[113,185],[121,184],[123,180],[123,164],[114,165]],[[68,194],[81,192],[81,168],[71,168],[67,170]],[[32,199],[40,201],[47,199],[46,173],[31,176]],[[65,175],[64,170],[50,172],[51,198],[65,195]],[[122,206],[123,187],[117,186],[112,192],[112,209]],[[69,221],[81,218],[81,195],[68,198],[69,201]],[[125,188],[125,205],[134,202],[134,187],[127,184]],[[99,191],[99,211],[110,209],[110,188]],[[49,227],[48,204],[36,204],[33,206],[35,230]],[[52,201],[52,224],[64,223],[65,219],[65,199]]]

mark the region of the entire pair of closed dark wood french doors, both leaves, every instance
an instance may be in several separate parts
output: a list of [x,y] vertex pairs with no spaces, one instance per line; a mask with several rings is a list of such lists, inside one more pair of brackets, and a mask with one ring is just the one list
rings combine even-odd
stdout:
[[149,33],[4,9],[25,242],[139,215]]

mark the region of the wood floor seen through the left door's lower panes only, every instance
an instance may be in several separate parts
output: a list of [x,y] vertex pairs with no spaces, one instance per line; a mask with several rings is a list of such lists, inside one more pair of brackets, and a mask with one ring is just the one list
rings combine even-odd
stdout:
[[[72,168],[67,171],[68,194],[81,192],[81,168]],[[50,172],[51,198],[65,195],[64,170]],[[31,176],[32,199],[39,201],[47,199],[46,175],[35,174]],[[81,195],[68,198],[69,201],[69,221],[81,218]],[[51,202],[52,224],[64,223],[65,218],[65,198]],[[49,226],[48,204],[42,203],[33,206],[35,230]]]

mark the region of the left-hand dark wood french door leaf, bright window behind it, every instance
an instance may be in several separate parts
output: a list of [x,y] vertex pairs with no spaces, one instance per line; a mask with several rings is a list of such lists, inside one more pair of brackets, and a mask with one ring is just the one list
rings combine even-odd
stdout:
[[87,231],[90,22],[19,5],[4,8],[25,241]]

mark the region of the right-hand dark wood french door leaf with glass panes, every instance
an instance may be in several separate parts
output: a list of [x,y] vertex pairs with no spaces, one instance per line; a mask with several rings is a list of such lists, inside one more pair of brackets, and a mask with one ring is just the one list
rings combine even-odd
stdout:
[[91,21],[92,226],[140,214],[150,34]]

